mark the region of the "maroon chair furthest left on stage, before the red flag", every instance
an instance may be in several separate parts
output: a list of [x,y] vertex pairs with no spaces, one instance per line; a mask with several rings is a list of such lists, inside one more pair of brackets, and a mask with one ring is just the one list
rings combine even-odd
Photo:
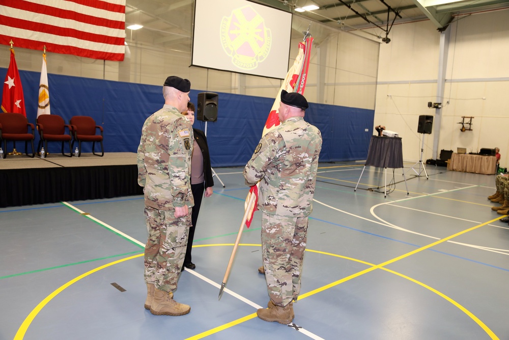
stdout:
[[[29,132],[29,127],[31,132]],[[7,158],[7,142],[12,141],[16,148],[17,141],[25,142],[25,154],[29,155],[28,142],[32,143],[32,158],[35,157],[34,151],[34,124],[29,123],[28,119],[20,113],[0,113],[0,145],[4,142],[4,157]]]

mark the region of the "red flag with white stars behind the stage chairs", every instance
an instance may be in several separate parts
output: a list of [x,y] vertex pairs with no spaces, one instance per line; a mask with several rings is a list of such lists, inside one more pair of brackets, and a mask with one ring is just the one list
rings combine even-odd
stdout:
[[2,95],[2,111],[20,113],[26,117],[25,99],[19,77],[18,66],[14,58],[14,49],[11,48],[11,62],[5,76],[4,91]]

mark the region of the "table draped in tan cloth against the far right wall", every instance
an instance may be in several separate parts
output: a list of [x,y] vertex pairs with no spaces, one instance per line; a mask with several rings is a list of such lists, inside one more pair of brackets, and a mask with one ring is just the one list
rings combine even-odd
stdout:
[[492,175],[497,170],[497,158],[495,156],[454,152],[449,162],[447,162],[447,170]]

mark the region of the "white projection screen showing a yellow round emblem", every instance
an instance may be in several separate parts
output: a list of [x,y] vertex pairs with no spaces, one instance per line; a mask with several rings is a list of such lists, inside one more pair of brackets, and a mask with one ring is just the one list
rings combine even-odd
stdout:
[[195,0],[191,65],[285,79],[292,14],[246,0]]

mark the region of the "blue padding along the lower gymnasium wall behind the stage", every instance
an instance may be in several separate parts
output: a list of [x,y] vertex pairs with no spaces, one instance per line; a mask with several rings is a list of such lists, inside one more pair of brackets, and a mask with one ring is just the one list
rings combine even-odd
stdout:
[[[0,79],[5,79],[6,73],[6,68],[0,68]],[[21,70],[19,73],[26,116],[35,125],[40,73]],[[97,125],[104,128],[105,152],[136,152],[145,119],[164,104],[162,85],[56,74],[48,74],[48,82],[51,114],[62,116],[66,122],[78,115],[94,118]],[[203,91],[191,90],[189,94],[195,106],[199,92]],[[218,95],[217,121],[205,126],[205,122],[196,120],[194,127],[202,130],[207,127],[213,167],[244,166],[262,136],[274,99],[231,93]],[[374,110],[311,103],[305,119],[322,133],[320,162],[365,160],[373,134],[374,115]],[[38,142],[36,132],[36,147]],[[24,145],[16,147],[24,151]],[[48,148],[49,152],[60,152],[59,143],[50,143]],[[96,152],[99,150],[96,145]],[[82,145],[82,152],[91,151],[92,143]]]

